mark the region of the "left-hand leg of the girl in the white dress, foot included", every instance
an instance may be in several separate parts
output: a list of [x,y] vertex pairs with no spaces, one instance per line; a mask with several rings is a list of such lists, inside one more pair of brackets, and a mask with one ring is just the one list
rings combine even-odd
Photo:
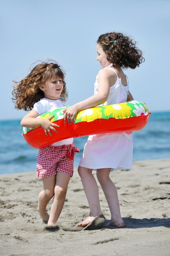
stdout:
[[96,216],[102,214],[99,203],[99,189],[95,177],[92,174],[92,169],[88,169],[82,166],[78,167],[78,173],[81,177],[84,192],[88,200],[90,215],[83,222],[78,223],[75,227],[85,227],[91,223]]

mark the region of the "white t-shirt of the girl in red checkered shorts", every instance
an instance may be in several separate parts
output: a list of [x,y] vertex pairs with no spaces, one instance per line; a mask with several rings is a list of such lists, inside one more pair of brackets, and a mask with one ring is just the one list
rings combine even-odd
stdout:
[[[35,109],[38,112],[38,114],[41,115],[45,112],[52,112],[56,108],[62,108],[65,106],[66,106],[66,103],[64,101],[61,101],[60,99],[52,100],[52,99],[42,98],[40,101],[34,104],[33,109]],[[73,143],[73,138],[63,139],[51,144],[51,146],[57,147],[62,145],[69,145],[72,143]]]

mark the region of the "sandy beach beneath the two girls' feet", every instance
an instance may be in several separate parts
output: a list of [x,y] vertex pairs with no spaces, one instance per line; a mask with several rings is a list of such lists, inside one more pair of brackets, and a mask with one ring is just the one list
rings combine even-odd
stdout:
[[[60,229],[44,231],[37,211],[42,181],[35,173],[0,175],[0,255],[170,255],[170,159],[134,162],[111,173],[125,228],[64,231],[88,216],[88,203],[75,168]],[[95,175],[95,174],[94,174]],[[99,186],[102,211],[110,211]],[[50,211],[50,205],[48,211]]]

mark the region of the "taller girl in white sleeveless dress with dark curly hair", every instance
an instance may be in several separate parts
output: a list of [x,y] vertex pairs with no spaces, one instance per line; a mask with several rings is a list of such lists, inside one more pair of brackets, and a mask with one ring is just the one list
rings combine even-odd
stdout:
[[[112,32],[99,36],[97,61],[102,66],[95,81],[94,95],[65,110],[64,120],[73,122],[79,110],[94,106],[106,106],[133,100],[129,92],[128,78],[122,68],[135,69],[144,61],[136,42],[121,33]],[[78,172],[90,207],[90,216],[76,227],[95,228],[104,225],[105,217],[99,204],[99,191],[92,171],[108,202],[111,220],[108,225],[125,227],[121,218],[117,189],[110,179],[110,171],[131,168],[133,141],[131,132],[91,135],[84,146]]]

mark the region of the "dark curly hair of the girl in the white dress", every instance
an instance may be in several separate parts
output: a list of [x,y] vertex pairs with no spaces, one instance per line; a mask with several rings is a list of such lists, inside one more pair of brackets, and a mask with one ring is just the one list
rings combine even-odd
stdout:
[[103,34],[99,36],[97,43],[106,53],[107,60],[113,63],[113,67],[135,69],[145,61],[142,52],[136,47],[135,40],[121,33]]

